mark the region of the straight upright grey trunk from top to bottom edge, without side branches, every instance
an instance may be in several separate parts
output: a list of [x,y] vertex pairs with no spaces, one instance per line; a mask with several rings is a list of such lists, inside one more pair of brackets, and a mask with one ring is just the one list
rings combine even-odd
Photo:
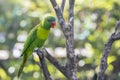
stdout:
[[[77,60],[74,53],[74,0],[69,0],[69,18],[68,18],[68,35],[66,41],[67,48],[67,63],[66,69],[70,79],[69,80],[77,80],[76,72],[77,72]],[[72,72],[72,73],[71,73]]]

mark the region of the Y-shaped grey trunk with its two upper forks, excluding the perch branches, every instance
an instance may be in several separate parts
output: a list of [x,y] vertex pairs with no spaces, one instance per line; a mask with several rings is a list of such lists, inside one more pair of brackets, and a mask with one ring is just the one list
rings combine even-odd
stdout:
[[66,51],[67,51],[67,62],[66,62],[66,73],[68,80],[78,80],[76,76],[77,64],[76,56],[74,53],[74,2],[75,0],[69,0],[69,18],[68,25],[66,25],[63,18],[62,11],[57,5],[55,0],[50,0],[51,4],[56,12],[62,31],[66,37]]

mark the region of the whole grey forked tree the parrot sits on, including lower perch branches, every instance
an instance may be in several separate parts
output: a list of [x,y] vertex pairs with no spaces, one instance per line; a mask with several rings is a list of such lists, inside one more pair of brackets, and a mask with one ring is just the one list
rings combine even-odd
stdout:
[[[42,57],[44,57],[44,55],[45,55],[46,58],[61,73],[63,73],[63,75],[65,75],[65,77],[68,80],[78,80],[78,78],[76,76],[77,60],[76,60],[76,55],[74,53],[74,3],[75,3],[75,0],[69,0],[68,24],[66,24],[64,17],[63,17],[63,11],[64,11],[66,0],[62,0],[61,7],[58,6],[56,0],[50,0],[50,2],[56,12],[59,24],[60,24],[63,34],[66,38],[66,53],[67,53],[66,64],[65,65],[60,64],[59,61],[57,61],[54,57],[52,57],[45,48],[43,48],[41,51],[41,53],[43,53],[42,55],[40,55],[39,50],[37,51],[37,54]],[[42,58],[42,57],[39,57],[39,58]],[[43,67],[47,69],[45,59],[42,59],[40,61],[41,61],[40,64],[41,65],[44,64],[45,66],[43,66]],[[42,68],[43,71],[45,72],[45,73],[43,72],[44,76],[48,78],[48,79],[46,79],[46,78],[45,79],[51,80],[49,71],[44,70],[44,68]]]

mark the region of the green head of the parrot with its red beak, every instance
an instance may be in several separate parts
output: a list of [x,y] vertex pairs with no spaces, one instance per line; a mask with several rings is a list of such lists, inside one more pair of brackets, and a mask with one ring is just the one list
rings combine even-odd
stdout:
[[46,16],[43,19],[42,26],[43,26],[44,29],[55,28],[55,26],[56,26],[55,17],[53,17],[53,16]]

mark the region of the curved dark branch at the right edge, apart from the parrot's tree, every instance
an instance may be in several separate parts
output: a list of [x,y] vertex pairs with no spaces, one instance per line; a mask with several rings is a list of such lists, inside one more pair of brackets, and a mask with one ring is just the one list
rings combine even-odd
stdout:
[[118,26],[120,27],[119,24],[120,24],[120,21],[116,24],[115,32],[110,36],[108,42],[105,44],[105,48],[104,48],[103,55],[102,55],[102,58],[101,58],[100,71],[98,73],[97,80],[104,80],[105,71],[106,71],[107,66],[108,66],[107,58],[108,58],[108,55],[110,53],[111,46],[112,46],[114,41],[120,40],[120,32],[116,33],[117,29],[118,29]]

